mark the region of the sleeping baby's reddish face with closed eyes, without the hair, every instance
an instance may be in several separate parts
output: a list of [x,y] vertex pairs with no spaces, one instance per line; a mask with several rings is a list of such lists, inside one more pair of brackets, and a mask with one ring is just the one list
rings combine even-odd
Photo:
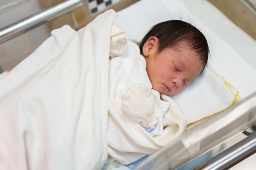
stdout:
[[151,49],[145,59],[152,89],[168,96],[178,94],[203,71],[198,54],[189,49]]

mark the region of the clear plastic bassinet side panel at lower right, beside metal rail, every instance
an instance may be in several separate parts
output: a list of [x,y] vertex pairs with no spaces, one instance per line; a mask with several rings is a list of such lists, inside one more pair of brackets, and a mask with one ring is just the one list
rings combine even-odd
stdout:
[[256,93],[186,131],[136,169],[177,168],[256,123]]

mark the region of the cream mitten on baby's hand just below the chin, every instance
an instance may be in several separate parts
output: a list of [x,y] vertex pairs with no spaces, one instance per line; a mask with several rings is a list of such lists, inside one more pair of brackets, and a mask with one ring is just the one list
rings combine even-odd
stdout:
[[160,113],[160,109],[154,106],[155,96],[144,84],[131,86],[122,96],[121,110],[124,118],[142,127],[154,128]]

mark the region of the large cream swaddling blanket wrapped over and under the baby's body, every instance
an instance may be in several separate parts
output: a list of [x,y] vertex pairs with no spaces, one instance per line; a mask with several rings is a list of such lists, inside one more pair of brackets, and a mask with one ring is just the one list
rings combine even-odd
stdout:
[[98,16],[0,99],[0,169],[100,169],[108,151],[113,159],[131,163],[185,130],[186,117],[168,96],[161,96],[169,109],[157,136],[124,121],[109,98],[116,16],[113,10]]

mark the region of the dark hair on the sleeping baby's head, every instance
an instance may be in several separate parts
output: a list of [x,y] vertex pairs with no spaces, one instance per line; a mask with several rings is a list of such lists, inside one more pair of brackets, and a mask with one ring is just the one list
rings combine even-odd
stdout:
[[158,39],[158,53],[172,47],[177,48],[181,43],[188,43],[191,50],[197,52],[204,67],[208,60],[209,46],[205,36],[194,26],[181,20],[170,20],[156,24],[142,39],[139,48],[142,49],[150,37]]

